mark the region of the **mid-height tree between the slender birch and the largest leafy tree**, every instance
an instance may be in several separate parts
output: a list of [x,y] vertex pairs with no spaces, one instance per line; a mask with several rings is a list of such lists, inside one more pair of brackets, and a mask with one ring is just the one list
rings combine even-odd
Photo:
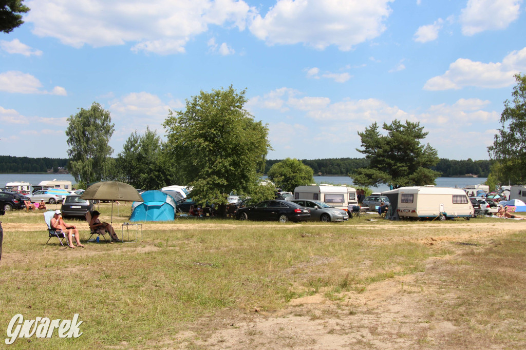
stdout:
[[155,130],[146,127],[144,135],[139,135],[137,131],[132,133],[117,156],[124,181],[144,190],[165,187],[167,177],[162,152],[163,143]]

